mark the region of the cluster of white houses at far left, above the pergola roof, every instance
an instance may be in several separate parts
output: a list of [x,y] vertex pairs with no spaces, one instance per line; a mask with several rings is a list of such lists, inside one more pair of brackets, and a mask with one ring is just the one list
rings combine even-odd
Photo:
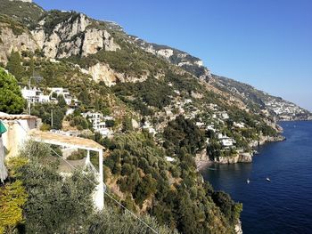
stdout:
[[43,102],[57,102],[57,99],[53,97],[53,93],[56,94],[56,96],[62,95],[64,97],[64,100],[66,101],[67,105],[74,105],[78,106],[78,99],[74,98],[71,94],[69,89],[62,88],[62,87],[53,87],[53,88],[47,88],[48,95],[45,95],[43,91],[40,88],[33,87],[28,88],[24,87],[21,89],[21,95],[24,99],[26,99],[30,103],[43,103]]

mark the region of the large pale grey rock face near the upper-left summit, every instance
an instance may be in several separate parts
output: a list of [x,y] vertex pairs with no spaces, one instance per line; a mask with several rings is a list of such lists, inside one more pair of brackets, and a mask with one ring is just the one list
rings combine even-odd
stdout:
[[[54,17],[58,17],[56,23]],[[86,57],[100,50],[120,49],[108,31],[95,28],[93,24],[94,20],[82,13],[52,12],[40,20],[31,33],[49,58]]]

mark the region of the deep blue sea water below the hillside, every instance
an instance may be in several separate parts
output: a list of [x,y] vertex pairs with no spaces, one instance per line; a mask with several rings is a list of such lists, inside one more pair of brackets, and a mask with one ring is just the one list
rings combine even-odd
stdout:
[[252,164],[210,165],[202,172],[215,190],[242,202],[244,234],[312,233],[312,122],[280,125],[286,141],[260,147]]

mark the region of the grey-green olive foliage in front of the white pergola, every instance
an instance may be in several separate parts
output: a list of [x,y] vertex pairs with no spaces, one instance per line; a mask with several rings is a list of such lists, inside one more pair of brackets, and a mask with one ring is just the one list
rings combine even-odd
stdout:
[[[78,230],[85,223],[85,215],[92,213],[94,185],[78,171],[62,178],[55,170],[57,160],[51,160],[51,149],[43,144],[29,142],[21,151],[21,157],[29,158],[29,164],[21,167],[19,176],[29,194],[24,208],[27,232]],[[85,176],[93,180],[90,174]]]

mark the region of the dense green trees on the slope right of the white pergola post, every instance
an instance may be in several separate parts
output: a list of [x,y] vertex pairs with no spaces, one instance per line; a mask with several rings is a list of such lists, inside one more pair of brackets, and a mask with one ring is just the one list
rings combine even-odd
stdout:
[[[208,183],[201,182],[187,150],[180,149],[176,163],[171,164],[165,149],[147,133],[128,133],[103,143],[111,151],[104,161],[110,169],[106,182],[119,185],[125,206],[138,210],[152,203],[147,208],[150,214],[183,233],[231,232],[241,205],[220,198]],[[226,201],[226,208],[219,208],[213,198]]]

